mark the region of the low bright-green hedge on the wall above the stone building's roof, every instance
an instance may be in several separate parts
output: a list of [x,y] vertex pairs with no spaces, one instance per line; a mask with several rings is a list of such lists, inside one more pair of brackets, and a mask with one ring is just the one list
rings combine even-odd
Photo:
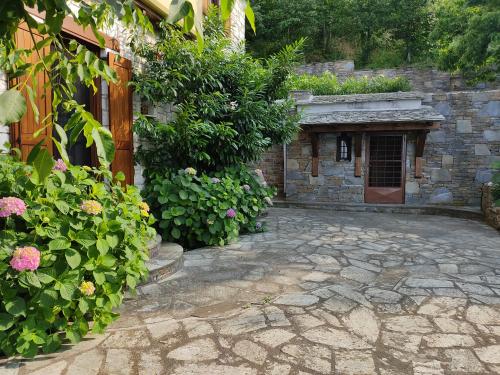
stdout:
[[406,77],[389,78],[384,76],[347,78],[341,83],[335,75],[325,72],[320,76],[291,75],[285,90],[309,90],[313,95],[348,95],[410,91],[411,85]]

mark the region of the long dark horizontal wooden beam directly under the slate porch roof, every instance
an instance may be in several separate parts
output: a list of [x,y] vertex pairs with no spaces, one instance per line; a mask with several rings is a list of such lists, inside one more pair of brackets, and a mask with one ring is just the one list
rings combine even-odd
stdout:
[[315,133],[340,132],[394,132],[410,130],[438,129],[439,123],[415,122],[394,124],[331,124],[331,125],[302,125],[304,129]]

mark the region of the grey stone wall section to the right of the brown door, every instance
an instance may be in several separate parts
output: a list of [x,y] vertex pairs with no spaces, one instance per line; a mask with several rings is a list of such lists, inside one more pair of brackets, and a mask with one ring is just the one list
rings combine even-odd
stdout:
[[479,206],[481,186],[500,160],[500,90],[429,95],[427,105],[445,120],[424,150],[424,177],[414,178],[414,139],[407,155],[407,203]]

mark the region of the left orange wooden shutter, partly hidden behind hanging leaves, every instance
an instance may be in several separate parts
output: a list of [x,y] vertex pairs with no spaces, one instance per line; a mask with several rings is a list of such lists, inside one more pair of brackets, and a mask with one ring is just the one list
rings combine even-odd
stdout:
[[[43,39],[41,35],[39,35],[36,31],[32,31],[33,34],[30,34],[28,31],[28,27],[24,24],[21,25],[17,32],[16,32],[16,45],[18,48],[33,48],[34,43],[33,39],[35,42],[39,42],[40,40]],[[33,36],[32,36],[33,35]],[[45,56],[48,53],[50,53],[50,46],[44,47],[40,51],[41,55]],[[39,57],[36,52],[33,52],[31,56],[28,58],[27,62],[35,63],[39,60]],[[24,80],[26,79],[25,76],[16,78],[14,83],[21,83],[23,84]],[[46,147],[49,150],[49,152],[52,153],[52,142],[50,141],[51,133],[52,133],[52,126],[50,124],[50,113],[52,109],[52,93],[51,89],[49,86],[44,87],[45,84],[49,82],[49,77],[45,72],[39,72],[37,73],[36,77],[36,89],[35,94],[36,94],[36,100],[35,104],[38,107],[39,111],[39,117],[38,121],[35,119],[35,113],[33,112],[33,109],[31,107],[29,98],[28,98],[28,92],[24,88],[22,90],[22,94],[26,98],[26,103],[27,103],[27,111],[26,114],[23,116],[21,121],[17,124],[13,124],[11,126],[11,143],[13,147],[17,147],[21,150],[21,155],[23,160],[26,160],[28,157],[28,154],[30,151],[33,149],[33,146],[36,145],[38,142],[40,142],[44,137],[47,139],[46,142]],[[27,84],[30,87],[33,87],[31,78],[28,80]],[[48,126],[41,132],[41,134],[38,137],[34,137],[34,133],[42,128],[44,125]]]

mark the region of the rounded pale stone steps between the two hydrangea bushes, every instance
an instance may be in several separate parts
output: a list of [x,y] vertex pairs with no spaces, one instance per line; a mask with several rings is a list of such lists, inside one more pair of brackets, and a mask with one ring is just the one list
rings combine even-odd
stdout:
[[182,268],[184,249],[176,243],[163,242],[157,253],[146,263],[149,270],[148,283],[161,281]]

